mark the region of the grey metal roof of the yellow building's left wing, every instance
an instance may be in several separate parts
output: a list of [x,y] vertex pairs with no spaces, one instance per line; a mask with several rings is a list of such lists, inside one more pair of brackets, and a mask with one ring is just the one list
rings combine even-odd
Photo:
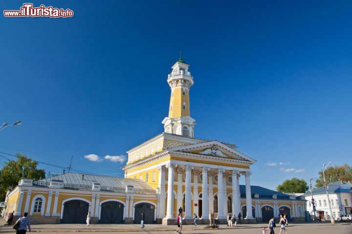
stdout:
[[114,176],[98,176],[87,175],[79,173],[65,173],[62,175],[51,176],[50,178],[41,179],[38,181],[50,182],[51,180],[63,180],[64,184],[77,185],[92,185],[93,183],[100,183],[100,186],[126,188],[126,186],[133,186],[135,189],[152,189],[147,183],[140,179],[119,178]]

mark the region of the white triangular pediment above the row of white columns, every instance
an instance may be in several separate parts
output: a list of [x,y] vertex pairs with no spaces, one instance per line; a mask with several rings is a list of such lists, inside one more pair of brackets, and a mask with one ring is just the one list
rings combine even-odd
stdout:
[[208,141],[199,144],[186,145],[169,149],[170,152],[183,152],[194,155],[213,156],[220,158],[229,158],[254,163],[255,160],[243,155],[233,148],[226,146],[219,141]]

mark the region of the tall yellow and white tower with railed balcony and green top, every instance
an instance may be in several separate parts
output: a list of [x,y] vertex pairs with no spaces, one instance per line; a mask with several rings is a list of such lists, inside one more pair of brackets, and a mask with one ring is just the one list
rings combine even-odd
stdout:
[[169,117],[165,117],[164,132],[194,137],[196,120],[190,115],[189,90],[194,84],[193,76],[188,71],[190,65],[181,58],[171,67],[173,70],[168,75],[167,82],[171,88]]

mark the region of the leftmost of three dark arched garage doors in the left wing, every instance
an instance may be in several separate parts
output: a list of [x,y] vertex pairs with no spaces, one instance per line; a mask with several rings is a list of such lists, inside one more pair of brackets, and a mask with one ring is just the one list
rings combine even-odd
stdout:
[[64,203],[63,223],[85,223],[89,203],[82,200],[70,200]]

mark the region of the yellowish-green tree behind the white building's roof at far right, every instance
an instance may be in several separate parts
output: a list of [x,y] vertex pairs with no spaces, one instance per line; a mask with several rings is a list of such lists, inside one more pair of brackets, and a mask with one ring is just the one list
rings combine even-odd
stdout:
[[[345,163],[342,166],[333,166],[325,169],[325,179],[327,183],[343,180],[352,181],[352,167]],[[320,188],[323,186],[324,178],[323,172],[319,172],[319,178],[315,181],[315,187]]]

